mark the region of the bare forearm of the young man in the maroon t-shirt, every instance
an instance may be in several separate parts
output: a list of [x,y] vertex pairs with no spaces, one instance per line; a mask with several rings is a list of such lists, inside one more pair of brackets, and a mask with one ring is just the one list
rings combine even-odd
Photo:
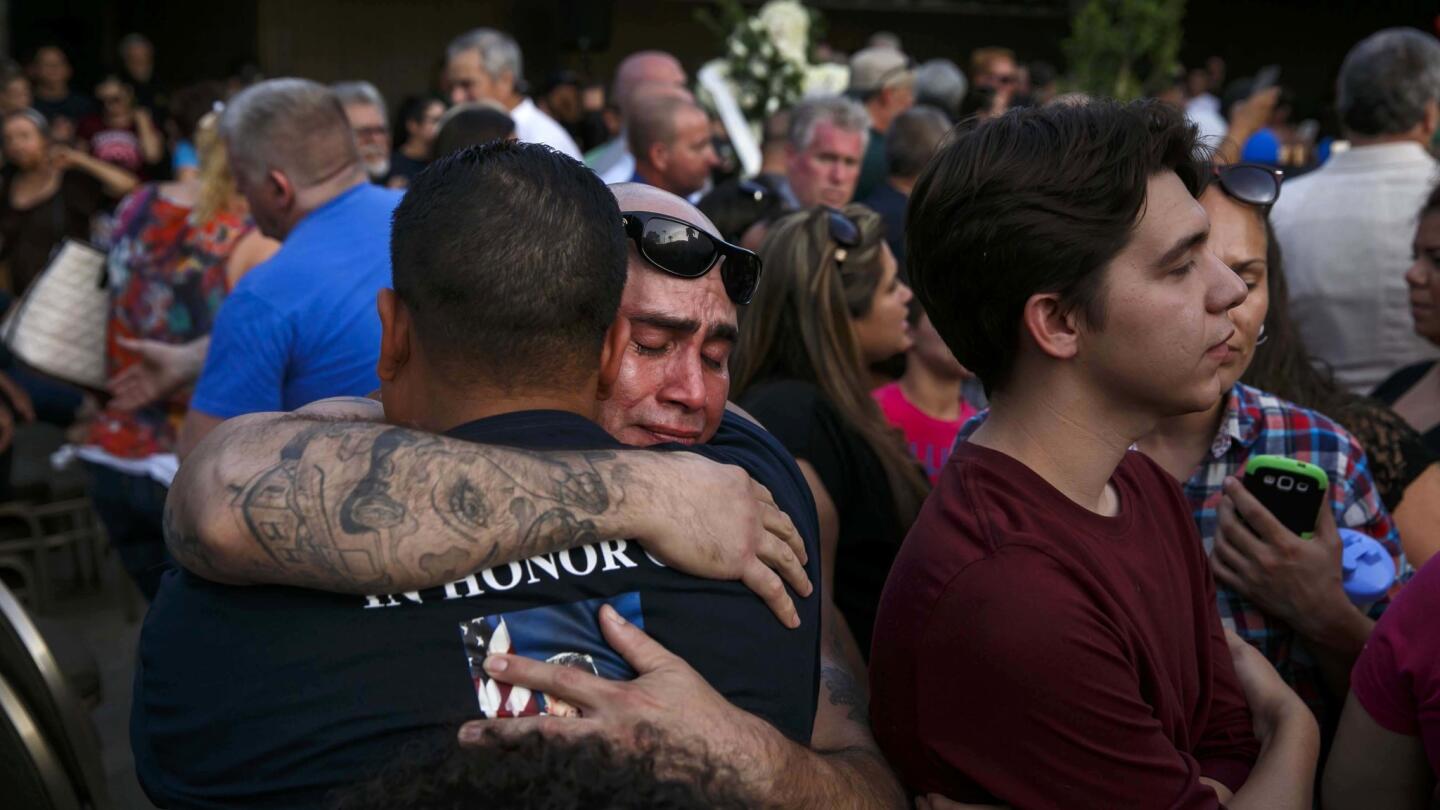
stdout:
[[1250,778],[1225,806],[1230,810],[1308,810],[1319,754],[1320,731],[1315,716],[1292,696],[1277,712],[1270,732],[1261,735],[1260,758]]

